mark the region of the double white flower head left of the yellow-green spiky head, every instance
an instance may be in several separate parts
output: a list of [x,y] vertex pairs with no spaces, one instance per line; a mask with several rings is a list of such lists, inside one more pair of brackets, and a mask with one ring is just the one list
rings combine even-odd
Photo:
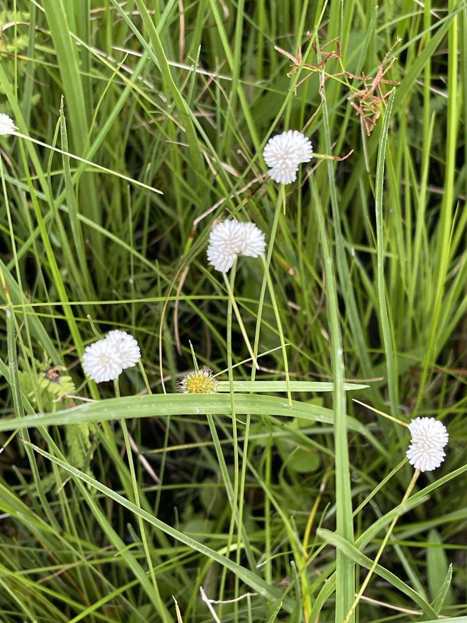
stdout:
[[85,348],[83,370],[96,383],[113,381],[126,368],[136,366],[141,353],[138,342],[126,331],[110,331],[103,340]]

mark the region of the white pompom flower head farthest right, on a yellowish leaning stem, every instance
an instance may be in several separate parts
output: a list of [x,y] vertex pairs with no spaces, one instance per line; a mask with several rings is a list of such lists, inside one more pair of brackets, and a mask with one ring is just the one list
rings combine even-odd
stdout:
[[434,417],[417,417],[408,425],[412,443],[407,450],[410,465],[420,472],[431,472],[445,460],[443,448],[449,435],[444,424]]

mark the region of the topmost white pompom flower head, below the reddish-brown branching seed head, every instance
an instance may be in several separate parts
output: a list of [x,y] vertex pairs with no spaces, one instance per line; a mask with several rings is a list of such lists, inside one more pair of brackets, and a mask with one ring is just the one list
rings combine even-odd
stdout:
[[271,179],[290,184],[297,178],[298,165],[313,158],[313,146],[309,138],[298,130],[288,130],[268,140],[263,158]]

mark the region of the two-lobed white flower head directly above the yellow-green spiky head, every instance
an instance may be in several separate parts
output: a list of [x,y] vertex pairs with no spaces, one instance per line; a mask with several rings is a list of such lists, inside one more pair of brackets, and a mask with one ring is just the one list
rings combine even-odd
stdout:
[[264,234],[254,223],[230,219],[217,224],[210,232],[207,259],[215,270],[227,272],[238,255],[259,257],[265,247]]

